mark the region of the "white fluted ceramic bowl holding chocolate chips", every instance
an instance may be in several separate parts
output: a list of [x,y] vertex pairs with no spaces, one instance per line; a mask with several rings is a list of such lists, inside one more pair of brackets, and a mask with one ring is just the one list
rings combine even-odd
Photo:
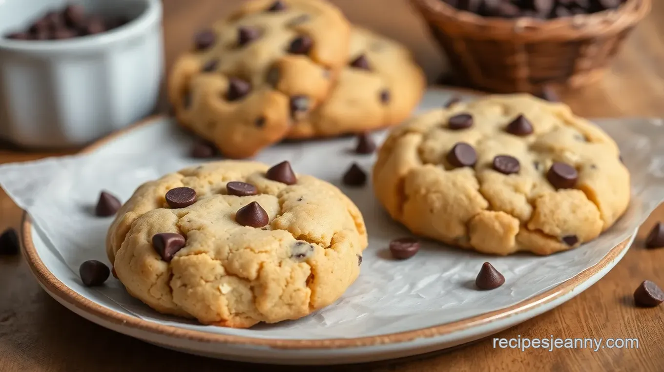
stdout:
[[[131,21],[62,41],[4,37],[68,3]],[[161,13],[159,0],[0,1],[0,137],[77,147],[149,114],[163,74]]]

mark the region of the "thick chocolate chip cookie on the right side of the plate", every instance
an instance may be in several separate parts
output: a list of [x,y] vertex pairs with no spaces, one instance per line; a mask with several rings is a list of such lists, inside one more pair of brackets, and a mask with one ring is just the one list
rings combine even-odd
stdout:
[[616,143],[527,94],[433,110],[395,128],[374,193],[413,233],[489,254],[551,254],[611,227],[629,203]]

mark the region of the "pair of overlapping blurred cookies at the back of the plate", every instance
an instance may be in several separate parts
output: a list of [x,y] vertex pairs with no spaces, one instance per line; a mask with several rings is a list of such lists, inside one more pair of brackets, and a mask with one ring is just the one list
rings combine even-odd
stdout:
[[285,138],[398,124],[425,84],[404,46],[323,0],[254,0],[195,36],[169,98],[183,126],[244,158]]

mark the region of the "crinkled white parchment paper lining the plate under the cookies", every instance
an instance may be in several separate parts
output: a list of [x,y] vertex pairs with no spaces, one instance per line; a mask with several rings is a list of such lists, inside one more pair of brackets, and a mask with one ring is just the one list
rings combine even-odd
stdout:
[[[438,107],[447,98],[444,92],[429,92],[420,110]],[[593,266],[633,234],[664,199],[663,122],[596,122],[620,145],[632,176],[631,204],[622,219],[600,238],[546,257],[483,256],[425,241],[410,260],[392,260],[388,243],[407,236],[408,231],[382,211],[369,185],[352,189],[340,181],[353,161],[371,169],[373,155],[353,154],[353,138],[286,143],[264,151],[258,160],[289,160],[295,171],[325,179],[347,193],[365,217],[369,248],[363,257],[361,276],[338,302],[301,320],[252,329],[201,326],[162,316],[127,295],[114,278],[100,288],[86,288],[80,283],[81,262],[97,259],[108,263],[104,237],[112,218],[92,215],[100,190],[125,201],[139,184],[195,164],[187,157],[191,138],[168,120],[129,132],[88,155],[3,165],[0,183],[33,218],[33,239],[48,269],[64,284],[103,306],[152,322],[213,333],[297,339],[363,337],[444,324],[511,306]],[[375,138],[382,140],[384,133]],[[505,285],[492,291],[475,290],[475,276],[487,260],[503,273]]]

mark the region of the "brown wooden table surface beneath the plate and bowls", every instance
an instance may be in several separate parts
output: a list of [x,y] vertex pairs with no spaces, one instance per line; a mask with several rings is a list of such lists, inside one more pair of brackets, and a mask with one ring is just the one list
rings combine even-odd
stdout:
[[[164,0],[167,66],[199,27],[240,0]],[[337,0],[351,21],[410,46],[430,81],[444,70],[440,52],[406,0]],[[563,92],[582,116],[664,116],[664,2],[637,27],[599,84]],[[0,150],[0,162],[54,153]],[[0,229],[19,227],[21,211],[0,194]],[[494,349],[485,339],[437,355],[345,366],[349,371],[664,371],[664,306],[635,308],[631,294],[645,279],[664,286],[664,249],[645,250],[643,225],[622,262],[597,284],[497,337],[636,337],[639,349]],[[315,371],[341,371],[341,367]],[[114,333],[69,312],[41,290],[20,256],[0,257],[0,371],[311,371],[194,357]]]

